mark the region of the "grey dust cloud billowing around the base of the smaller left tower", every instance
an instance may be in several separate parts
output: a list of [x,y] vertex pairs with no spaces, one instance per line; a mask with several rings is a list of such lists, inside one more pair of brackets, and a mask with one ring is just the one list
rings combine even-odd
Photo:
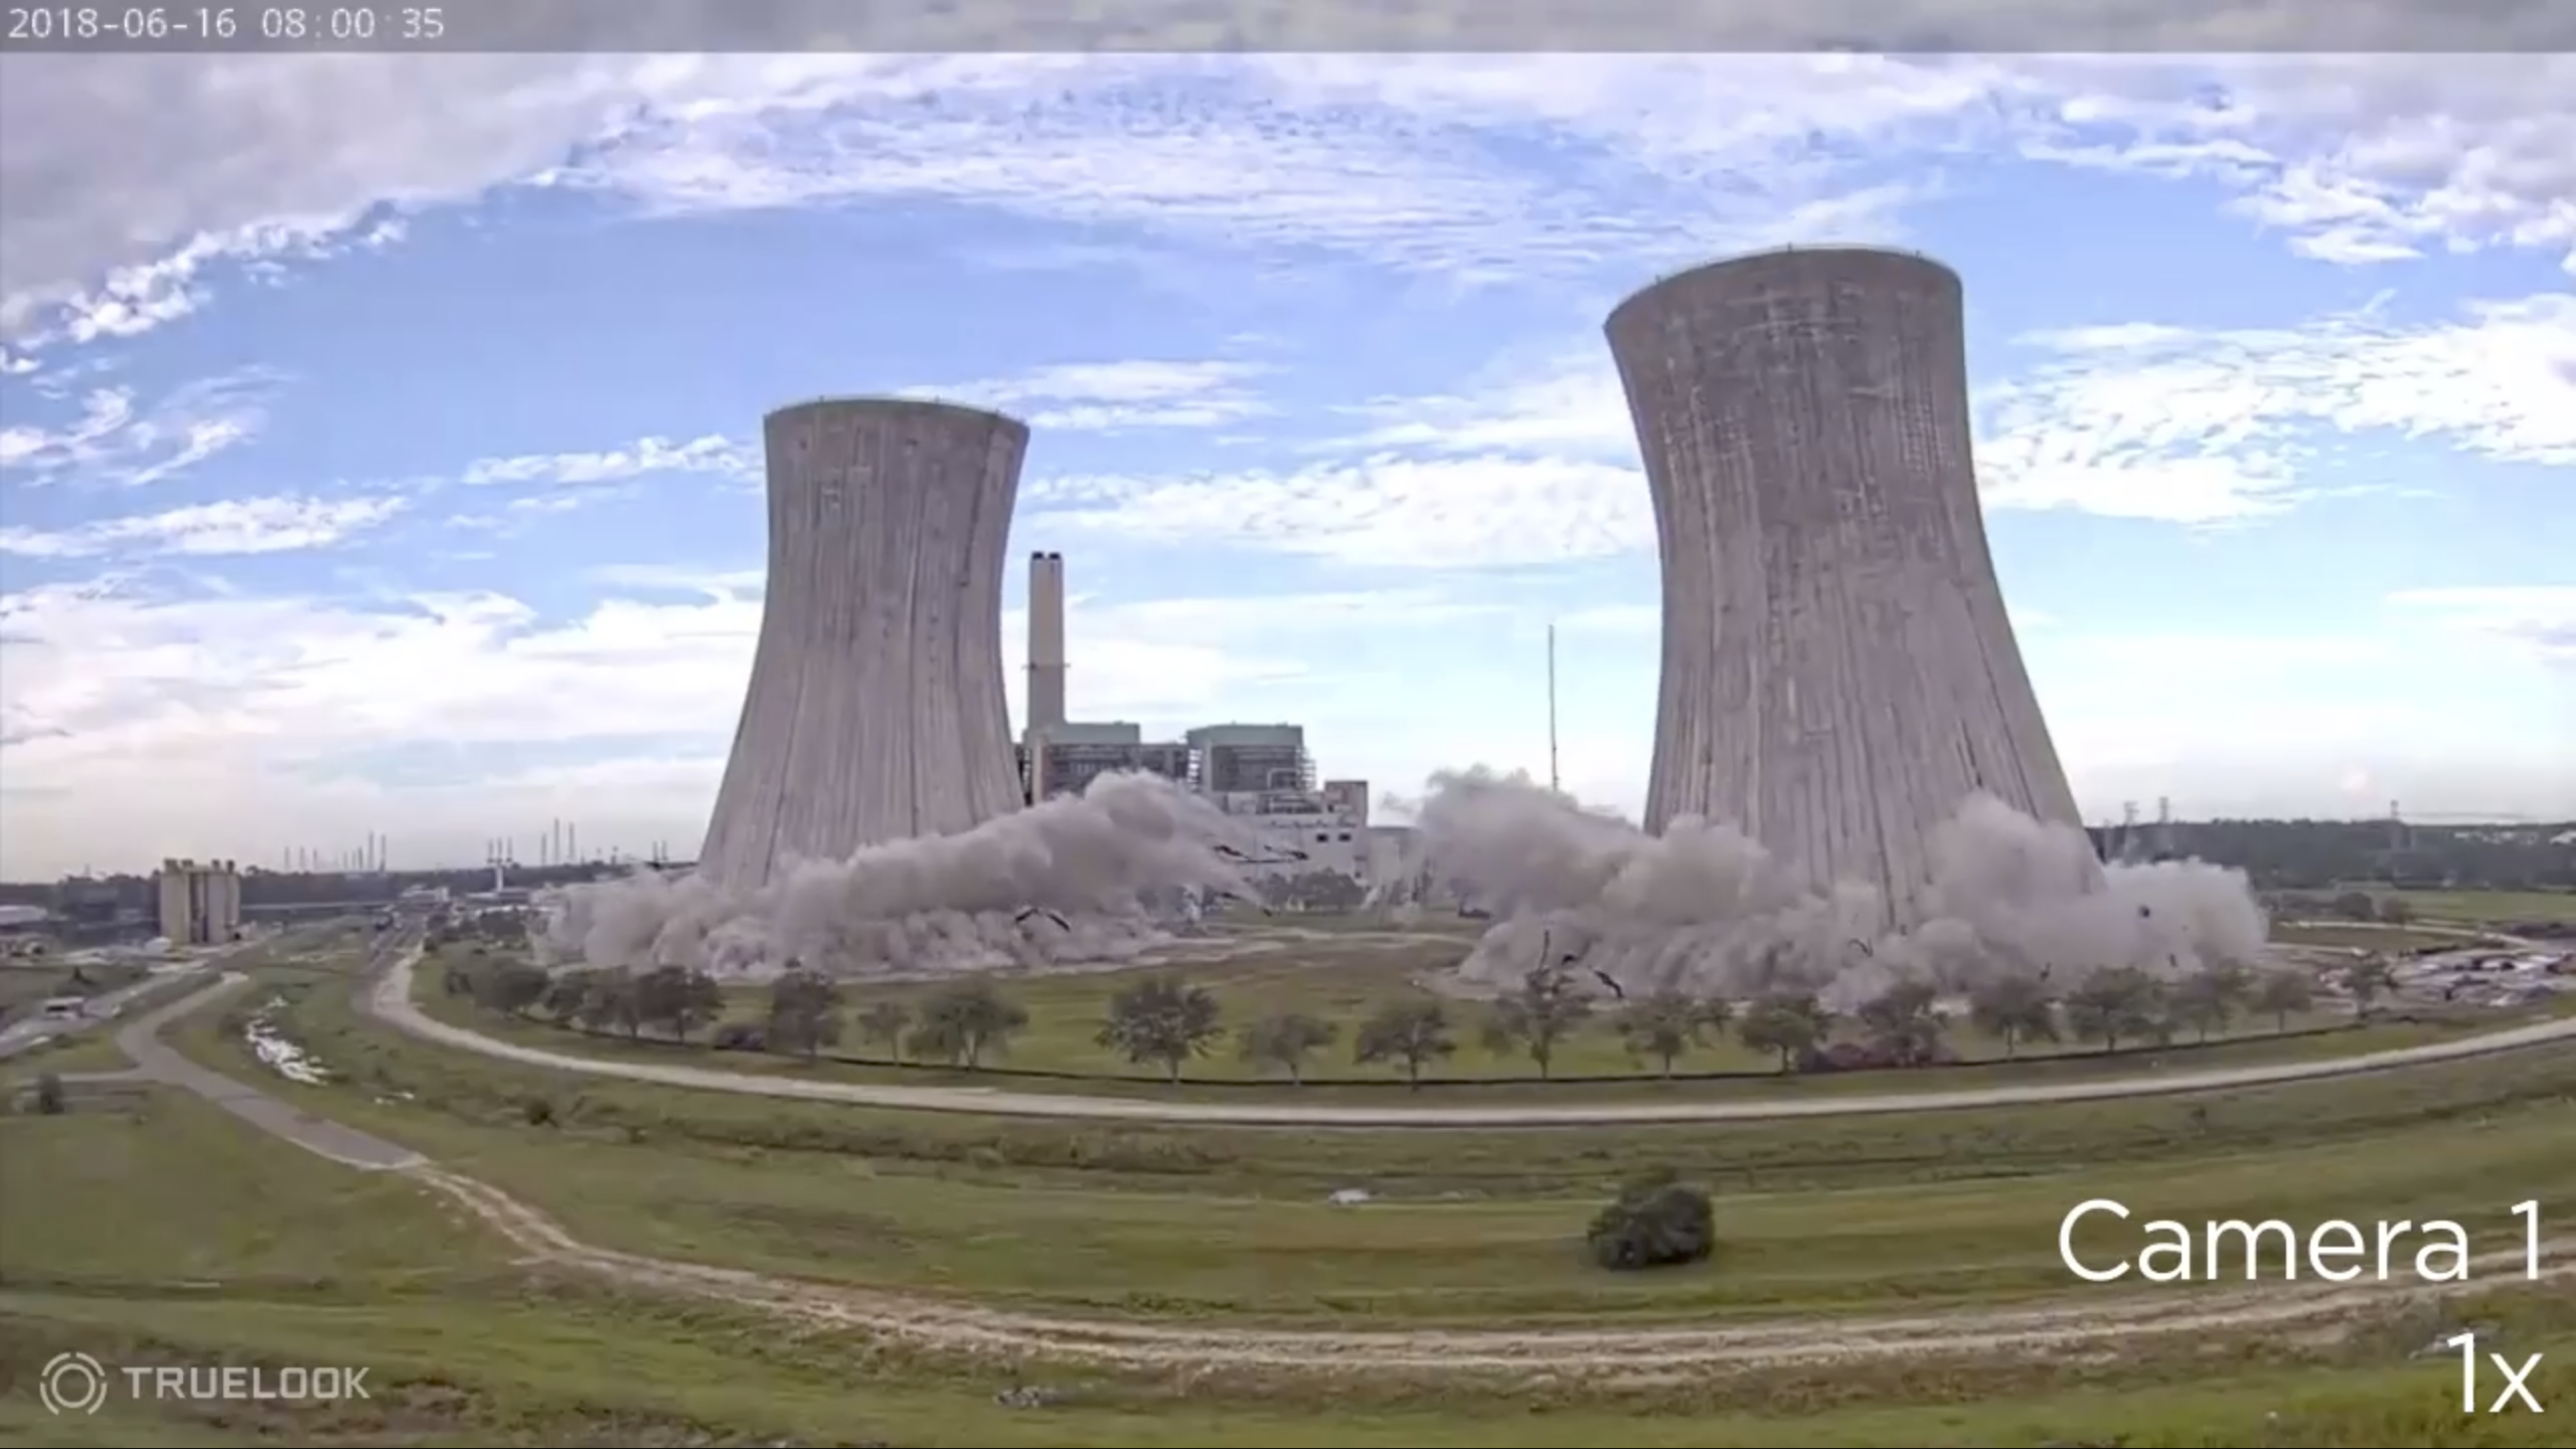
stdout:
[[1242,828],[1141,773],[1100,776],[956,835],[886,841],[845,861],[793,861],[760,890],[654,871],[549,902],[549,962],[703,967],[768,977],[956,975],[1128,962],[1170,941],[1167,913],[1244,890]]

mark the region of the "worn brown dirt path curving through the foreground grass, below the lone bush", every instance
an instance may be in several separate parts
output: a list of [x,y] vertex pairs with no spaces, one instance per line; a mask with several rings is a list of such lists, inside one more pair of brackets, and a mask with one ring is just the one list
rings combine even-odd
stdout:
[[[2300,1323],[2334,1323],[2437,1302],[2522,1279],[2522,1253],[2491,1253],[2458,1284],[2264,1284],[2179,1287],[2159,1297],[2069,1294],[2040,1307],[1965,1310],[1911,1318],[1795,1318],[1723,1328],[1553,1328],[1553,1330],[1291,1330],[1208,1323],[1043,1318],[961,1302],[881,1294],[775,1279],[739,1269],[672,1263],[592,1248],[544,1212],[489,1183],[446,1168],[410,1176],[464,1204],[533,1261],[580,1269],[654,1292],[721,1299],[814,1325],[878,1333],[922,1348],[1041,1356],[1118,1369],[1257,1369],[1381,1374],[1569,1374],[1633,1377],[1690,1366],[1777,1366],[1844,1359],[1955,1354],[2056,1354],[2141,1336],[2187,1336]],[[2576,1238],[2543,1243],[2535,1281],[2576,1279]]]

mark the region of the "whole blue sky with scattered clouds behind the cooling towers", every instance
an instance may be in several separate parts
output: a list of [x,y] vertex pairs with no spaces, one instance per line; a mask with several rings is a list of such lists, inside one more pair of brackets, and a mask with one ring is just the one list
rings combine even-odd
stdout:
[[845,392],[1036,425],[1077,717],[1543,771],[1556,619],[1633,810],[1600,322],[1780,242],[1965,276],[2089,815],[2576,812],[2566,59],[0,64],[8,877],[693,848]]

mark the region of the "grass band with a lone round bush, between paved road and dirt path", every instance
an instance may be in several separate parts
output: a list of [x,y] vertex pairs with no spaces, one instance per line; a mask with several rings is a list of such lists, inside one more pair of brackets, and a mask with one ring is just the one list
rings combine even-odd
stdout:
[[[598,1243],[1110,1315],[1530,1323],[1986,1302],[2069,1287],[2056,1222],[2087,1196],[2187,1220],[2494,1230],[2514,1201],[2576,1194],[2576,1057],[2548,1049],[2202,1101],[1917,1119],[1226,1132],[580,1080],[379,1031],[337,980],[283,1024],[348,1083],[281,1093]],[[255,1070],[211,1029],[180,1042]],[[1723,1196],[1723,1266],[1605,1276],[1582,1261],[1600,1196],[1646,1165]],[[1378,1201],[1324,1201],[1342,1186]]]

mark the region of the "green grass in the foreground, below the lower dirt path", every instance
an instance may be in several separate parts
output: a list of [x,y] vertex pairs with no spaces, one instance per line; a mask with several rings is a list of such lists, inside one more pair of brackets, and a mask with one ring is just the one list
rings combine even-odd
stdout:
[[[255,1137],[196,1104],[13,1122],[0,1176],[0,1444],[453,1446],[2156,1446],[2537,1449],[2550,1418],[2476,1415],[2419,1356],[2476,1323],[2576,1395],[2576,1299],[2496,1292],[2334,1333],[2143,1338],[2066,1359],[1953,1356],[1708,1372],[1628,1387],[1311,1374],[1095,1374],[925,1359],[752,1310],[523,1271],[399,1176]],[[366,1366],[340,1408],[137,1405],[54,1418],[41,1364]],[[1048,1408],[994,1392],[1046,1385]]]

